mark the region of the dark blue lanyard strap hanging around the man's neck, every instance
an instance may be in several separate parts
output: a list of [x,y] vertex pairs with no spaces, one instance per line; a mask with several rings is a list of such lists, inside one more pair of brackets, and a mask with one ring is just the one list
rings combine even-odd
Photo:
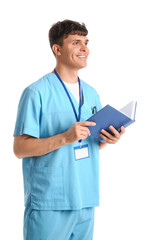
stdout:
[[[65,92],[66,92],[66,94],[67,94],[67,96],[68,96],[68,98],[69,98],[69,100],[70,100],[70,103],[71,103],[71,105],[72,105],[72,108],[73,108],[73,111],[74,111],[76,120],[77,120],[77,122],[79,122],[80,119],[81,119],[81,105],[82,105],[82,95],[81,95],[81,83],[80,83],[80,79],[79,79],[79,77],[78,77],[80,102],[79,102],[79,109],[78,109],[78,113],[79,113],[79,114],[78,114],[78,116],[77,116],[76,109],[75,109],[75,107],[74,107],[73,101],[72,101],[72,99],[71,99],[71,97],[70,97],[70,95],[69,95],[69,92],[68,92],[65,84],[63,83],[62,79],[60,78],[60,76],[58,75],[58,73],[56,72],[55,69],[54,69],[54,72],[55,72],[57,78],[59,79],[59,81],[61,82],[61,84],[62,84],[62,86],[63,86],[63,88],[64,88],[64,90],[65,90]],[[79,142],[80,145],[81,145],[82,140],[79,140],[78,142]]]

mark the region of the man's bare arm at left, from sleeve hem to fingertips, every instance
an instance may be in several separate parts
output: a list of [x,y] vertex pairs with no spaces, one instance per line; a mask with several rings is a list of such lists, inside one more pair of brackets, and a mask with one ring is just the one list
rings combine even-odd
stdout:
[[17,158],[45,155],[64,145],[86,139],[90,135],[87,126],[95,126],[95,123],[76,122],[68,131],[48,138],[34,138],[26,134],[15,136],[14,154]]

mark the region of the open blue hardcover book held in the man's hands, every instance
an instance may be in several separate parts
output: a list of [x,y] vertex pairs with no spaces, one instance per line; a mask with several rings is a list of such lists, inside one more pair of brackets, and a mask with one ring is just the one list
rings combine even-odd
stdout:
[[109,126],[112,125],[117,131],[120,132],[120,127],[128,127],[130,124],[135,122],[137,102],[131,101],[126,106],[117,110],[111,107],[109,104],[102,108],[100,111],[95,113],[92,117],[88,118],[86,121],[95,122],[96,126],[88,127],[91,135],[97,138],[99,141],[104,142],[100,137],[101,129],[112,133]]

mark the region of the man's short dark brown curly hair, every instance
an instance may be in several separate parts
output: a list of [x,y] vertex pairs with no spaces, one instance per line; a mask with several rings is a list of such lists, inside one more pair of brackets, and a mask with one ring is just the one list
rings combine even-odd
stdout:
[[67,38],[69,34],[86,36],[88,34],[88,30],[84,23],[80,24],[79,22],[72,20],[64,20],[62,22],[58,21],[52,25],[48,34],[51,49],[54,44],[62,46],[63,40]]

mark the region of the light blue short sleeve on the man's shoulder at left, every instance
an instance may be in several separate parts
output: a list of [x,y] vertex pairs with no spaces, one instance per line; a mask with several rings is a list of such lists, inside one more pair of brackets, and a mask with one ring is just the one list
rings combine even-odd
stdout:
[[19,101],[14,136],[27,134],[39,138],[40,95],[31,86],[27,87]]

